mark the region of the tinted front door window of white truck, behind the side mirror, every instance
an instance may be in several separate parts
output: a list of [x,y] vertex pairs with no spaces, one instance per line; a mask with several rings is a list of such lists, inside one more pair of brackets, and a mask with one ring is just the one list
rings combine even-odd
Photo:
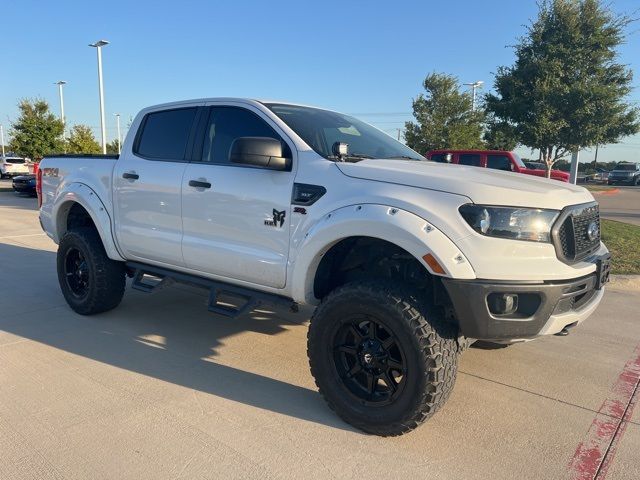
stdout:
[[[213,107],[204,132],[202,161],[229,163],[231,145],[240,137],[269,137],[282,142],[280,136],[256,114],[243,108]],[[282,142],[285,157],[291,157]]]

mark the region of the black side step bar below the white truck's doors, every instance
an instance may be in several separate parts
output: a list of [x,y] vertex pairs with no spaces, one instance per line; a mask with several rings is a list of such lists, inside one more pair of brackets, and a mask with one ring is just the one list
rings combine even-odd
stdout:
[[[138,262],[127,262],[127,268],[133,273],[131,288],[145,293],[157,292],[173,283],[185,283],[209,290],[208,310],[225,317],[236,318],[250,312],[262,304],[284,306],[293,312],[298,305],[290,298],[272,293],[260,292],[250,288],[231,285],[188,273],[175,272],[162,267],[145,265]],[[221,297],[240,300],[239,306],[221,301]]]

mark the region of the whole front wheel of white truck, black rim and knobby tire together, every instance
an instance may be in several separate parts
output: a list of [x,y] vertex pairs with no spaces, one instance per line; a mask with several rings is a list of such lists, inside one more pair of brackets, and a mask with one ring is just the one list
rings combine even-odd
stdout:
[[395,436],[449,398],[456,328],[409,291],[378,282],[339,287],[314,312],[307,352],[329,407],[367,433]]

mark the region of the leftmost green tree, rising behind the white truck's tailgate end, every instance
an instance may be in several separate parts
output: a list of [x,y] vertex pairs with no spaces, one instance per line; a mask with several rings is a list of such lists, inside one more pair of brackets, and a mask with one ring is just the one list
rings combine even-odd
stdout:
[[62,152],[64,125],[49,111],[49,104],[41,98],[25,98],[18,108],[20,115],[11,125],[11,149],[32,160]]

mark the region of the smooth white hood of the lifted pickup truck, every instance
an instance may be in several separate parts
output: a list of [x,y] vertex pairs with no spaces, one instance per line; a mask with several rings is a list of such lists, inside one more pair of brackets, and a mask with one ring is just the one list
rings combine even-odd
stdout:
[[486,205],[561,210],[593,201],[586,189],[576,185],[465,165],[383,159],[336,165],[349,177],[455,193]]

